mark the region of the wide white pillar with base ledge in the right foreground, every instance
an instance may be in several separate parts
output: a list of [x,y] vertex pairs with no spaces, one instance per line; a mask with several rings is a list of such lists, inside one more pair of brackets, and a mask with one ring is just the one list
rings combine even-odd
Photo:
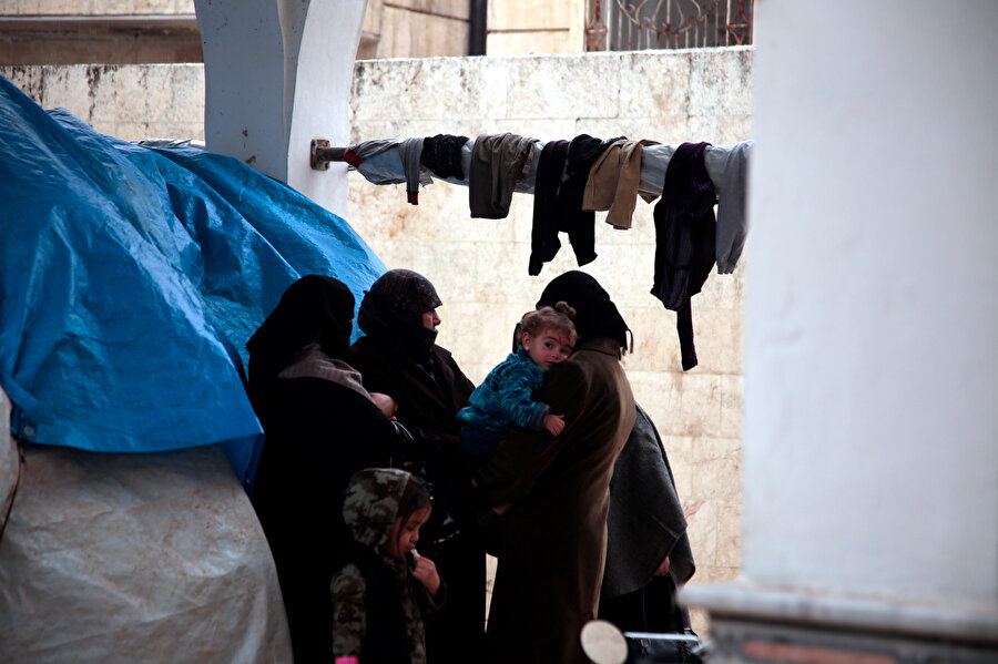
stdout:
[[995,644],[998,2],[755,8],[743,572],[684,596]]

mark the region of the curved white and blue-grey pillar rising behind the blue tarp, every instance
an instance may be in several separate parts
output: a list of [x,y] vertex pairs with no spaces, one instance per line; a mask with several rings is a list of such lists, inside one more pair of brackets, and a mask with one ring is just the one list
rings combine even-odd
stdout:
[[346,166],[309,166],[314,137],[349,142],[366,0],[195,0],[205,142],[346,216]]

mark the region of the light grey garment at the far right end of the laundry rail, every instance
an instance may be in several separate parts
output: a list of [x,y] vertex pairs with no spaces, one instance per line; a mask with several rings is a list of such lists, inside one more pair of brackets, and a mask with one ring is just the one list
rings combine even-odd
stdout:
[[745,191],[748,153],[754,143],[744,141],[731,149],[717,183],[717,274],[733,273],[745,247],[748,233]]

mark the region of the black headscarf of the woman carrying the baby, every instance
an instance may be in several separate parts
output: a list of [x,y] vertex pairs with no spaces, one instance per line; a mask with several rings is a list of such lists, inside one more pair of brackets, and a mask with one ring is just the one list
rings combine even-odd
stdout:
[[628,347],[630,328],[610,295],[592,276],[572,270],[554,277],[541,293],[537,307],[553,307],[561,300],[576,309],[572,323],[576,324],[580,341],[591,337],[610,337],[621,348]]

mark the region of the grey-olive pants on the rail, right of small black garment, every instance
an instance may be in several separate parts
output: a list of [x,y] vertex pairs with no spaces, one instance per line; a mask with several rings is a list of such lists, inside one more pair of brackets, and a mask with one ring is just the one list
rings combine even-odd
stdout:
[[529,171],[537,139],[517,134],[485,134],[475,140],[468,173],[471,216],[501,219],[509,215],[517,180]]

